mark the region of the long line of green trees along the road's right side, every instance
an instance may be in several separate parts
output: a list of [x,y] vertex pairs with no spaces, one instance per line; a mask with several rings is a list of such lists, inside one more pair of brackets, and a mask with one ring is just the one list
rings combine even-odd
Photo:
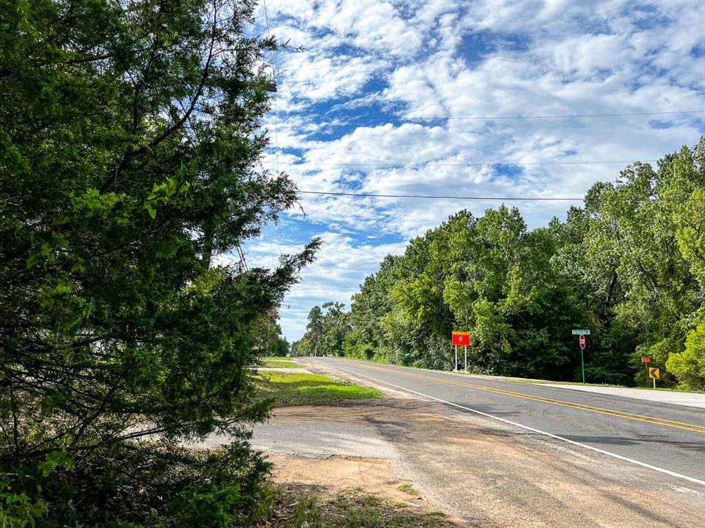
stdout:
[[472,372],[705,389],[705,138],[594,184],[565,221],[528,230],[517,208],[460,210],[389,255],[350,310],[315,306],[295,355],[448,369],[468,330]]

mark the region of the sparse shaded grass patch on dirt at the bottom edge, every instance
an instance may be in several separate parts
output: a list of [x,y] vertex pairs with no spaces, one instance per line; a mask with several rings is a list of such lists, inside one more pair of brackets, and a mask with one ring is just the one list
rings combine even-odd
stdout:
[[443,513],[417,513],[404,503],[346,492],[322,499],[305,491],[281,491],[272,528],[457,528]]

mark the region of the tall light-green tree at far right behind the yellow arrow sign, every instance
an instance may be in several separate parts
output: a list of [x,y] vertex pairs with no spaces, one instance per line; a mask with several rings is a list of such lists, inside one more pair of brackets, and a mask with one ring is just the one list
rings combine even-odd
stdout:
[[[637,163],[617,182],[597,184],[588,194],[595,203],[588,253],[610,262],[593,275],[610,284],[613,322],[637,336],[635,367],[639,356],[665,365],[703,318],[697,252],[704,205],[688,200],[705,189],[704,152],[701,139],[694,149],[665,156],[656,169]],[[644,369],[637,370],[637,379],[649,381]],[[666,372],[662,382],[676,380]]]

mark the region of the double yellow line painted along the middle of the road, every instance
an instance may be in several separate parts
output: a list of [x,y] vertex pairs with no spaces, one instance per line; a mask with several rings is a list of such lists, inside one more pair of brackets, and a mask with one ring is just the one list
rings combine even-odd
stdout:
[[[340,358],[338,358],[340,359]],[[350,361],[350,360],[348,360]],[[356,362],[357,363],[357,362]],[[359,363],[358,363],[359,364]],[[627,413],[622,410],[605,409],[601,407],[594,407],[585,405],[583,403],[573,403],[571,401],[555,400],[553,398],[543,398],[541,396],[532,396],[530,394],[522,394],[520,392],[505,391],[503,389],[494,389],[492,387],[475,385],[472,383],[456,382],[450,379],[443,379],[436,376],[427,376],[422,374],[415,374],[412,372],[407,372],[405,370],[397,370],[395,368],[388,367],[378,367],[373,365],[364,365],[366,368],[372,368],[375,370],[382,370],[384,372],[393,372],[395,374],[402,374],[405,376],[416,377],[419,379],[429,379],[432,382],[445,383],[449,385],[458,385],[462,387],[467,387],[468,389],[477,389],[479,391],[493,392],[494,394],[502,394],[503,396],[513,396],[515,398],[523,398],[525,400],[541,401],[543,403],[551,403],[556,406],[570,407],[573,409],[586,410],[590,413],[599,413],[601,415],[616,416],[620,418],[626,418],[627,420],[635,420],[637,422],[645,422],[654,425],[663,425],[664,427],[674,427],[675,429],[683,429],[684,431],[691,431],[696,433],[705,434],[705,425],[690,424],[687,422],[676,422],[675,420],[666,420],[665,418],[657,418],[654,416],[639,415],[636,413]]]

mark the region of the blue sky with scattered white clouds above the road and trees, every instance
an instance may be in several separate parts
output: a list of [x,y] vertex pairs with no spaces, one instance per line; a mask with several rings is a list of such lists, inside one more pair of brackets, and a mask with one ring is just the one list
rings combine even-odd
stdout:
[[[302,190],[580,197],[625,163],[527,164],[656,160],[705,133],[703,113],[498,119],[705,111],[704,2],[267,0],[266,8],[271,33],[306,51],[274,56],[278,117],[266,119],[263,166],[285,170]],[[262,4],[256,23],[264,34]],[[482,215],[498,205],[302,195],[305,215],[290,210],[266,227],[245,247],[247,261],[276,265],[281,253],[324,239],[281,310],[284,334],[298,339],[314,304],[349,306],[365,275],[410,237],[461,208]],[[564,218],[569,204],[515,205],[537,227]]]

